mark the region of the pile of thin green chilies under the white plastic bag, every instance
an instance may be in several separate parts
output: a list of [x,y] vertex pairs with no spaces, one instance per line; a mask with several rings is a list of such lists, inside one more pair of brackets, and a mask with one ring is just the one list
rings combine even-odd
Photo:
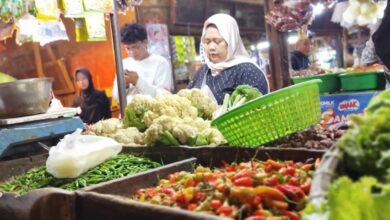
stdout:
[[119,154],[74,179],[57,179],[46,171],[46,167],[33,168],[22,176],[1,183],[0,191],[23,194],[43,187],[77,190],[159,166],[161,166],[159,163],[146,158]]

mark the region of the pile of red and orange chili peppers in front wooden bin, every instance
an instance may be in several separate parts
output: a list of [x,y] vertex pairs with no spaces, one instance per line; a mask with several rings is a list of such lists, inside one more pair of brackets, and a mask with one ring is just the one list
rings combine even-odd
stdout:
[[295,220],[306,204],[314,168],[310,162],[274,160],[225,163],[215,169],[198,166],[192,173],[173,173],[130,198],[235,219]]

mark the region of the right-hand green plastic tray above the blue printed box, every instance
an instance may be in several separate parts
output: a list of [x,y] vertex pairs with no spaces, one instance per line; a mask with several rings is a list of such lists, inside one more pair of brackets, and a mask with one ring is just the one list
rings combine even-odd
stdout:
[[378,90],[386,85],[383,72],[344,73],[340,81],[342,91]]

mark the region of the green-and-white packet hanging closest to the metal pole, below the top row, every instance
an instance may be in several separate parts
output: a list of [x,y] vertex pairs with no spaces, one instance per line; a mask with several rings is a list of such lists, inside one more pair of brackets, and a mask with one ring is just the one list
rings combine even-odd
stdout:
[[84,12],[84,16],[88,31],[88,41],[107,40],[104,13],[88,11]]

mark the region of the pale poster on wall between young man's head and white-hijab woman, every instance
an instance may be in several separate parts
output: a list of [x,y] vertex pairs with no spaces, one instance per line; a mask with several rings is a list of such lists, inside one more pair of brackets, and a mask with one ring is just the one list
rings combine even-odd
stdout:
[[171,60],[167,25],[147,24],[145,28],[148,34],[148,51]]

